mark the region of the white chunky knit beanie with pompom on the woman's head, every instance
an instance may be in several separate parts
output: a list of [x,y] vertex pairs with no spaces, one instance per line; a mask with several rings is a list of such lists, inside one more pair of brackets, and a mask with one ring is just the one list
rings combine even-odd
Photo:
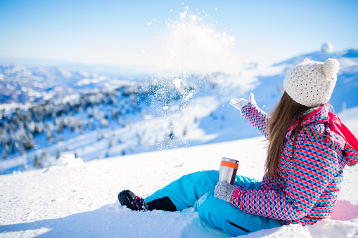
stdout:
[[326,62],[305,59],[288,72],[283,88],[295,102],[307,107],[327,103],[333,93],[339,68],[338,60]]

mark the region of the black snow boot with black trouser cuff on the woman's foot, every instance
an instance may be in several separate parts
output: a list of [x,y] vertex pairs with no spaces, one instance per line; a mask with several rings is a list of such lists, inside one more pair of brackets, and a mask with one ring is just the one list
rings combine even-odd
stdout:
[[122,206],[127,206],[133,211],[153,211],[154,209],[177,211],[177,207],[169,197],[162,197],[145,203],[143,198],[136,196],[132,191],[123,190],[118,194],[118,200],[120,200]]

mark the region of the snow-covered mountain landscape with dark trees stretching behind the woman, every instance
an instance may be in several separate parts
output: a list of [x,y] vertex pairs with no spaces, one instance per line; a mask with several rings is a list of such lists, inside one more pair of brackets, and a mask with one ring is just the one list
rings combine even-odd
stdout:
[[[336,112],[358,106],[355,50],[299,55],[264,69],[253,64],[239,75],[124,77],[1,64],[0,170],[51,166],[64,152],[89,161],[259,135],[239,119],[229,99],[252,91],[269,111],[288,70],[305,58],[337,58],[340,72],[330,103]],[[18,104],[4,104],[9,101]]]

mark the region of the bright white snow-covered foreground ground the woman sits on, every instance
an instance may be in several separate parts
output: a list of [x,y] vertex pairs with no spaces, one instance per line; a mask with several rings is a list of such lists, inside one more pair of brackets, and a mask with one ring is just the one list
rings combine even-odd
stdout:
[[[358,134],[358,107],[340,114]],[[238,133],[240,133],[238,131]],[[147,152],[83,162],[70,155],[58,166],[0,176],[1,237],[227,237],[193,209],[130,211],[117,193],[130,189],[147,197],[184,174],[218,169],[222,157],[240,160],[238,173],[260,179],[262,137]],[[331,220],[288,225],[248,237],[358,237],[358,166],[345,181]]]

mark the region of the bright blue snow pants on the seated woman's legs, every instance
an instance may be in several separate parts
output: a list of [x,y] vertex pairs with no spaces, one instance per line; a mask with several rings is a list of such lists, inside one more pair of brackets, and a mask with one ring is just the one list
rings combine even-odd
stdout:
[[[194,207],[200,218],[232,236],[281,226],[279,220],[245,213],[228,202],[217,199],[214,188],[218,180],[219,171],[190,173],[147,197],[145,202],[169,197],[177,211]],[[250,190],[260,189],[260,182],[243,176],[236,176],[234,185]]]

